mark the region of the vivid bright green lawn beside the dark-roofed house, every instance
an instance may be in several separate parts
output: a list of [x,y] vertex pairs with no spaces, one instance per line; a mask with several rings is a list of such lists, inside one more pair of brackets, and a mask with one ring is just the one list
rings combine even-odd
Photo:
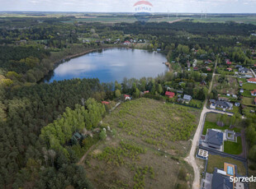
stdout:
[[224,141],[224,152],[228,154],[241,154],[243,151],[241,137],[237,137],[237,142]]

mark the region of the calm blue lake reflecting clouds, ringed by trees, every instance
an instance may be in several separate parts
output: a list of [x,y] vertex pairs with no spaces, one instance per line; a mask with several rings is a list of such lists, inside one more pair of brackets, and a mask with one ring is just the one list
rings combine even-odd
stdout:
[[154,77],[168,70],[163,62],[166,62],[166,58],[162,53],[126,48],[105,49],[59,64],[45,77],[44,82],[73,78],[98,78],[101,82],[121,82],[124,77]]

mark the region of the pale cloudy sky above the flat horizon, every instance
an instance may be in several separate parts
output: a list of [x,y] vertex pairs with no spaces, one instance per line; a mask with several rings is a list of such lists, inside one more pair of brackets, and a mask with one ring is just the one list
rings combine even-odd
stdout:
[[[138,0],[0,0],[0,11],[134,12]],[[153,12],[256,13],[256,0],[149,0]]]

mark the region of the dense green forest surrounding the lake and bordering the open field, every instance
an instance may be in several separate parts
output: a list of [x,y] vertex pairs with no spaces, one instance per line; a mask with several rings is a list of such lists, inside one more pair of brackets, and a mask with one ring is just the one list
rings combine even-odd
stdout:
[[[121,98],[121,94],[138,98],[145,90],[149,90],[149,98],[158,99],[169,86],[201,102],[212,79],[212,71],[202,70],[173,71],[140,80],[124,78],[121,84],[97,79],[39,82],[65,58],[97,48],[123,47],[127,39],[143,39],[146,49],[160,48],[168,62],[178,62],[182,68],[195,58],[224,61],[221,53],[244,65],[255,62],[252,54],[244,53],[256,46],[256,37],[251,35],[255,25],[63,23],[69,19],[0,19],[1,188],[92,188],[87,173],[76,163],[81,151],[104,138],[104,133],[95,141],[84,139],[75,145],[69,139],[74,131],[97,126],[107,113],[99,102]],[[208,74],[202,76],[203,71]],[[211,98],[216,96],[212,91]],[[255,120],[255,116],[247,120],[252,160],[256,159]]]

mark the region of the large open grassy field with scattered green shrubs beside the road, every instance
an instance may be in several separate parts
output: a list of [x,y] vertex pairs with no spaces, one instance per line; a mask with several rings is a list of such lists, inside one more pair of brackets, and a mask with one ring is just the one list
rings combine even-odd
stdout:
[[89,179],[96,188],[192,187],[192,168],[182,159],[199,114],[154,99],[121,104],[102,120],[117,134],[88,154],[84,167]]

